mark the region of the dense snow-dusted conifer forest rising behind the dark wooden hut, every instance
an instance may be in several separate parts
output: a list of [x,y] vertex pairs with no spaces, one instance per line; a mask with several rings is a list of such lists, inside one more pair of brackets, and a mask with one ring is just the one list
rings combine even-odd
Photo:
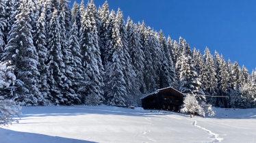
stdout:
[[66,0],[0,1],[0,57],[7,77],[0,82],[8,83],[1,97],[23,106],[138,106],[142,94],[167,86],[229,97],[206,97],[217,107],[256,102],[255,72],[125,22],[107,1],[99,9],[93,0],[75,2],[72,10]]

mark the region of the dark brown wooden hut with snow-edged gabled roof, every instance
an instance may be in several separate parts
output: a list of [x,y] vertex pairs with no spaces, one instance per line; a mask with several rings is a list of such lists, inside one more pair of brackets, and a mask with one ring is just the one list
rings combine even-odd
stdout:
[[183,104],[183,94],[172,87],[158,89],[140,98],[144,109],[179,111]]

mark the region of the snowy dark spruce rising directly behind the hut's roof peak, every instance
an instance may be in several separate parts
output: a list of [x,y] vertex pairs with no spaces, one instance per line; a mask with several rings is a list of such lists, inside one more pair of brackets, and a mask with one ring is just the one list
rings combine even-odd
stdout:
[[161,30],[158,35],[159,46],[162,50],[162,67],[160,69],[160,88],[166,88],[172,86],[175,80],[175,68],[173,67],[172,59],[170,57],[170,50],[168,44],[166,43],[166,37]]

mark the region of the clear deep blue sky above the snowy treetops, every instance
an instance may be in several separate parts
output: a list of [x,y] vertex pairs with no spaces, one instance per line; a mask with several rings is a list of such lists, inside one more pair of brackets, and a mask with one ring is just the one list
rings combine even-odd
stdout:
[[[78,0],[77,3],[80,3]],[[99,7],[105,0],[94,0]],[[73,5],[73,1],[71,1]],[[87,3],[87,1],[85,1]],[[225,60],[236,60],[251,73],[256,67],[255,0],[109,0],[110,10],[123,11],[124,19],[144,22],[171,39],[183,37],[191,48],[207,46]]]

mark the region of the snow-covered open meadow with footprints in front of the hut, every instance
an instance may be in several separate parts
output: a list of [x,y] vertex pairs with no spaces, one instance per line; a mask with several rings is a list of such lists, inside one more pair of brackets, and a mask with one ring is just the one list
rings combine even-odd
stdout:
[[212,118],[190,118],[142,108],[23,107],[20,123],[0,127],[0,142],[256,142],[256,109],[214,110]]

